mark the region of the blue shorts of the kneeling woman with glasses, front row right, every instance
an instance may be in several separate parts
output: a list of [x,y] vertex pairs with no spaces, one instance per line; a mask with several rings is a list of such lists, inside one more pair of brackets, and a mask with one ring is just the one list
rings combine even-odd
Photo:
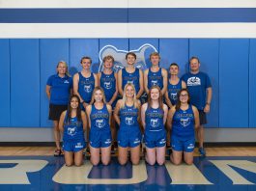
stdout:
[[172,136],[172,149],[176,151],[191,152],[195,147],[195,139],[181,140],[178,137]]

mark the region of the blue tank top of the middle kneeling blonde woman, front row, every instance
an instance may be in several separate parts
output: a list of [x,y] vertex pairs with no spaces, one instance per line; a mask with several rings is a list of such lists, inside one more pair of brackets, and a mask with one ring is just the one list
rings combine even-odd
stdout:
[[120,109],[120,128],[137,127],[138,123],[138,108],[125,105]]

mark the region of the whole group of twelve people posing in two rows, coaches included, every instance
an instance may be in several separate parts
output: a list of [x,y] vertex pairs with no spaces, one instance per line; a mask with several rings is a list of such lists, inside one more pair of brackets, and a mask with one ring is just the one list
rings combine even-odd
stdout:
[[[192,164],[195,130],[199,151],[205,154],[202,124],[206,123],[212,99],[211,82],[206,73],[199,72],[199,59],[190,59],[190,72],[183,76],[183,80],[178,77],[177,64],[171,64],[170,77],[166,69],[159,68],[160,56],[156,52],[150,55],[152,67],[146,69],[144,74],[134,67],[136,55],[133,52],[126,55],[126,60],[128,67],[115,73],[114,58],[108,55],[103,59],[103,70],[95,74],[90,70],[91,58],[83,57],[82,70],[73,78],[68,75],[67,64],[58,63],[57,74],[50,76],[46,85],[50,102],[49,120],[54,124],[57,147],[55,155],[63,154],[64,150],[67,166],[82,165],[83,150],[86,148],[84,131],[88,129],[92,164],[98,165],[100,160],[104,165],[109,164],[112,138],[116,139],[116,122],[119,124],[117,153],[120,164],[128,162],[128,150],[131,163],[139,163],[144,134],[146,161],[150,165],[162,165],[165,162],[165,127],[171,129],[170,160],[180,164],[184,155],[185,163]],[[199,83],[198,78],[201,80]],[[192,94],[204,92],[199,97],[195,96],[196,100],[202,99],[199,102],[203,102],[203,107],[190,104],[193,97],[189,95],[189,87],[197,87],[191,91]],[[139,98],[144,91],[148,102],[141,105]],[[118,94],[123,98],[116,101]],[[163,96],[167,105],[163,103]],[[60,132],[63,133],[63,150]]]

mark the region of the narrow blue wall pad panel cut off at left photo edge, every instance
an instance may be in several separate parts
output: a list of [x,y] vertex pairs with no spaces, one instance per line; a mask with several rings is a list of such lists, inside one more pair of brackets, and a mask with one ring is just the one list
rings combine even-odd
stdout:
[[0,40],[0,126],[10,125],[10,44],[9,40]]

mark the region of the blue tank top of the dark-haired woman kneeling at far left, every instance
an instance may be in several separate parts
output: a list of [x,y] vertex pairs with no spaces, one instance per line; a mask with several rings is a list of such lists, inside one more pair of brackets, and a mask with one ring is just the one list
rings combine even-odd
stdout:
[[67,122],[67,121],[68,121],[68,111],[66,113],[66,117],[64,121],[63,140],[64,141],[84,140],[83,123],[78,122],[76,117],[71,118],[70,122]]

